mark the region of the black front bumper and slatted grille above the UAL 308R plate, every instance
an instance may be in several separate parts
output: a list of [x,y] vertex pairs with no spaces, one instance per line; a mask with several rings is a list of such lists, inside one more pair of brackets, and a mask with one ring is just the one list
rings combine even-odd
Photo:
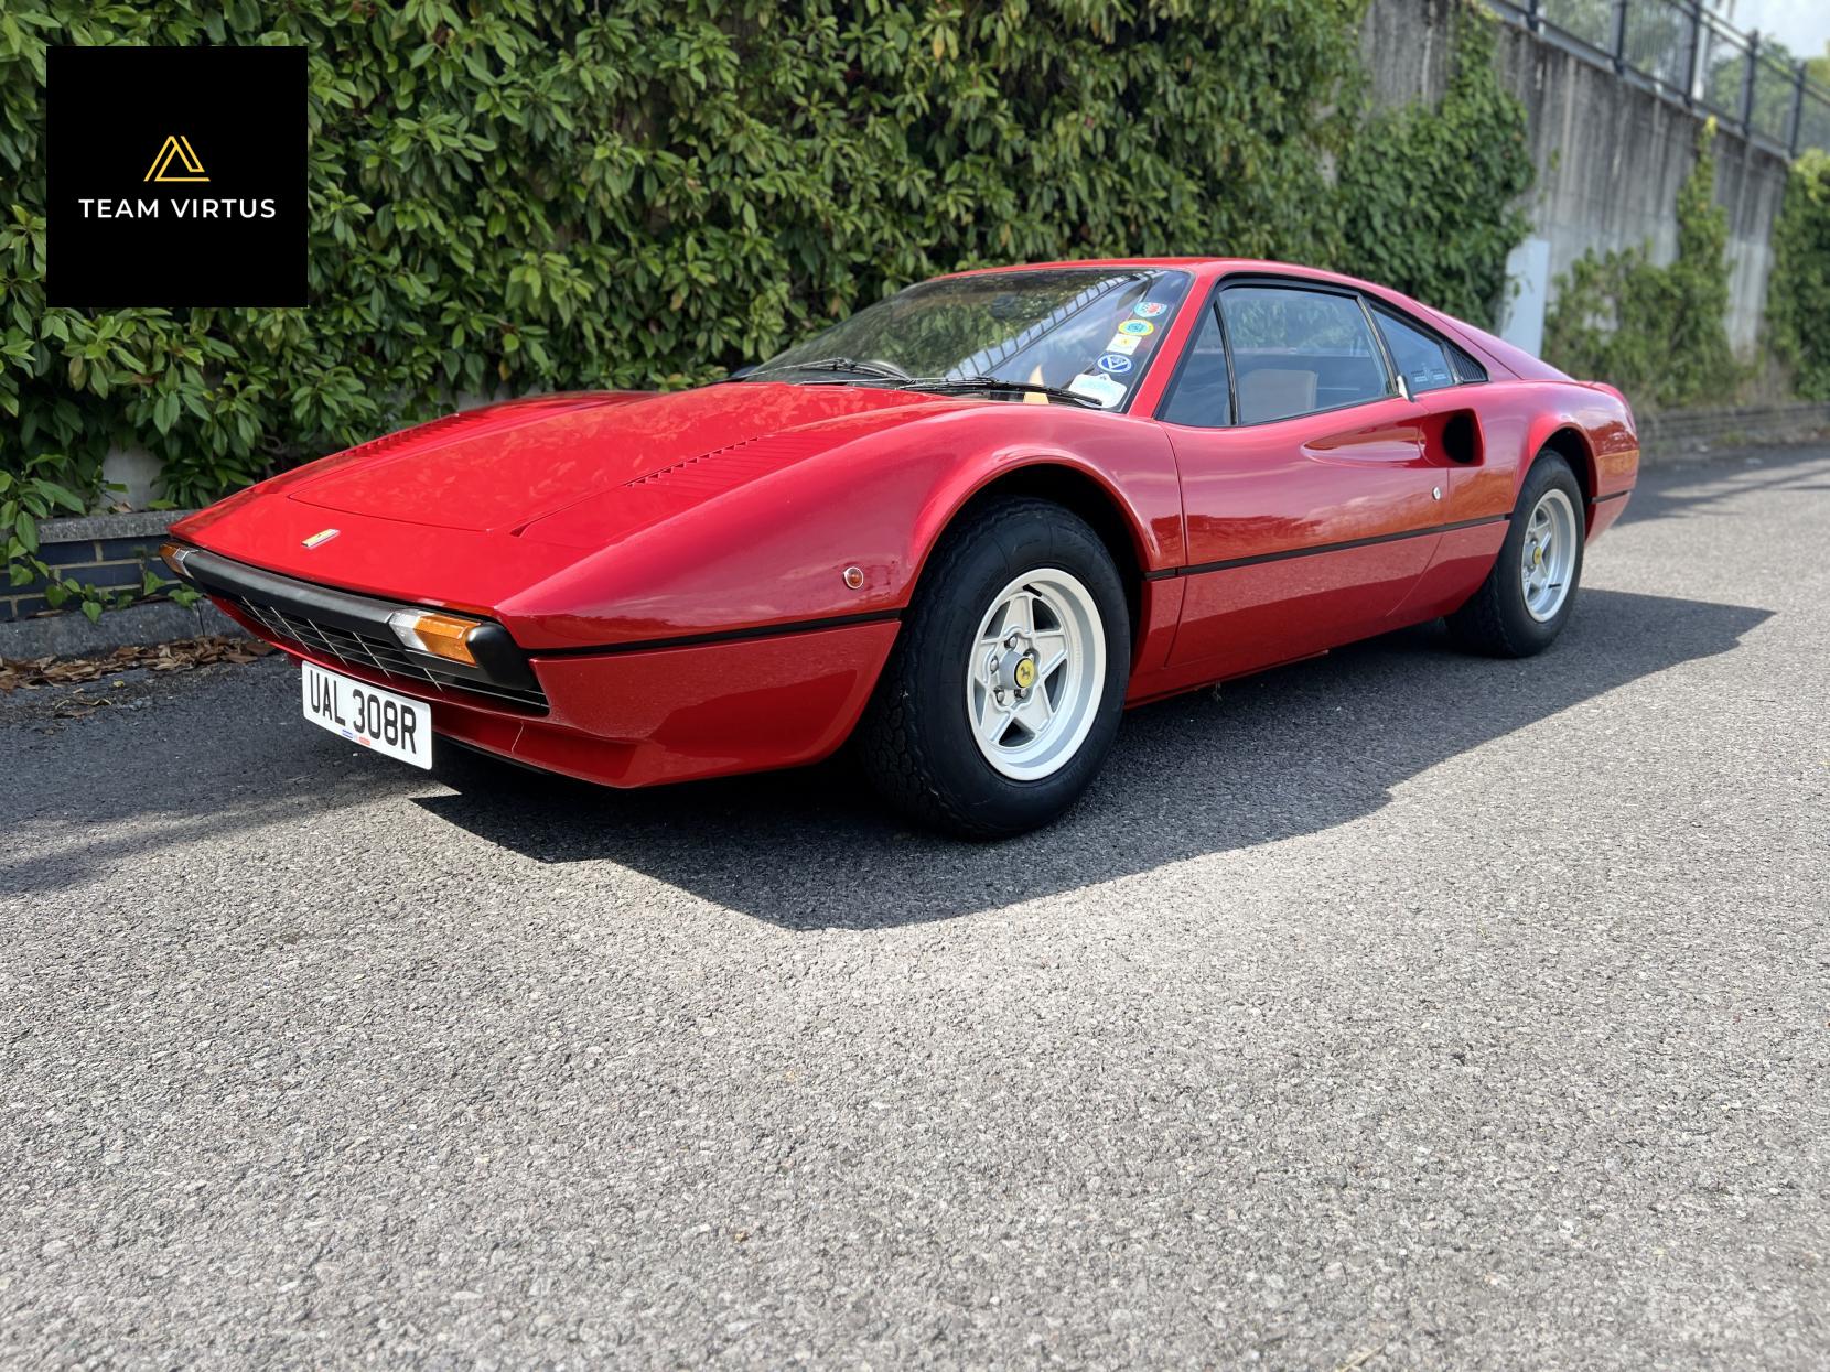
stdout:
[[472,631],[470,648],[478,659],[472,668],[401,644],[388,627],[388,615],[419,606],[298,582],[203,549],[187,551],[183,569],[199,589],[245,615],[282,646],[340,662],[415,695],[430,691],[452,701],[481,699],[518,710],[547,710],[547,693],[500,624]]

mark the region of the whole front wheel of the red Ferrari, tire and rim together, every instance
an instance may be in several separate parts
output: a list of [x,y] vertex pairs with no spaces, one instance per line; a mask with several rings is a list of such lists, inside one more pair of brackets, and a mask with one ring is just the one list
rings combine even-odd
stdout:
[[986,505],[935,551],[858,726],[871,781],[961,838],[1049,823],[1105,761],[1129,644],[1093,529],[1039,499]]

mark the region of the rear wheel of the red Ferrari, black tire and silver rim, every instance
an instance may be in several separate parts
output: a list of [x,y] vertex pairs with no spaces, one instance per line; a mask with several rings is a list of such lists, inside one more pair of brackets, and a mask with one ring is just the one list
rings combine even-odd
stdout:
[[1545,450],[1532,463],[1499,560],[1449,633],[1475,653],[1530,657],[1563,631],[1583,574],[1583,488],[1568,461]]

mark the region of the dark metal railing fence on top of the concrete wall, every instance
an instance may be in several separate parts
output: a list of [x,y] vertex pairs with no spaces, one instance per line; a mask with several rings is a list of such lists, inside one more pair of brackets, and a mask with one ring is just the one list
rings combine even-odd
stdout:
[[1771,152],[1830,150],[1830,90],[1803,59],[1742,33],[1702,0],[1490,0],[1504,18]]

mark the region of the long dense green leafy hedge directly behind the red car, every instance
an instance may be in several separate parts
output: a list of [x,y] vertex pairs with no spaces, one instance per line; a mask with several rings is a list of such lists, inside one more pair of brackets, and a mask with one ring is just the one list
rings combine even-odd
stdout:
[[[33,510],[92,501],[110,443],[145,445],[174,501],[205,501],[463,395],[688,384],[966,265],[1276,256],[1484,315],[1517,238],[1493,201],[1530,174],[1523,110],[1493,97],[1482,49],[1480,110],[1427,159],[1393,155],[1394,196],[1385,157],[1354,155],[1363,7],[13,0],[15,576]],[[46,309],[46,44],[306,46],[313,307]],[[1486,230],[1460,252],[1374,251],[1471,221]],[[20,505],[31,477],[55,492]]]

